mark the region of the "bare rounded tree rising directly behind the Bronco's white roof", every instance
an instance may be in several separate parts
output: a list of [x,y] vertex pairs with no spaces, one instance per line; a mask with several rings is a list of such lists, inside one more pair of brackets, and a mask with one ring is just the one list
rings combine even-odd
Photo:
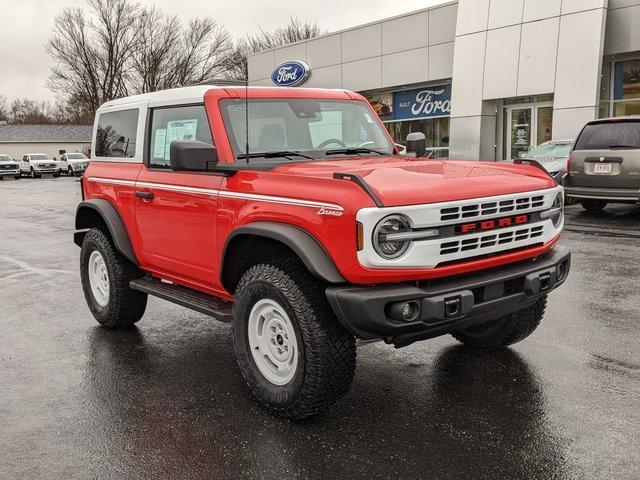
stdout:
[[138,31],[132,72],[139,92],[221,76],[233,46],[229,33],[215,20],[194,19],[185,28],[177,17],[155,7],[142,12]]

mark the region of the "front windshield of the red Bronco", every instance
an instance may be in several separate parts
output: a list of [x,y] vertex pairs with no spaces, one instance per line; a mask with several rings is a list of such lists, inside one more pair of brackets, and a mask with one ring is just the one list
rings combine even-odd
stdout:
[[[246,153],[244,100],[221,102],[225,127],[236,158]],[[249,153],[297,152],[315,158],[339,156],[345,149],[391,155],[393,145],[367,104],[348,100],[249,100]],[[353,149],[362,149],[353,151]],[[300,161],[304,156],[291,156]]]

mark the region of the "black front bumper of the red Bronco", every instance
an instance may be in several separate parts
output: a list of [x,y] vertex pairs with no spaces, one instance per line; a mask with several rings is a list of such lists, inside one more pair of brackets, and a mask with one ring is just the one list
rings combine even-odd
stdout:
[[[402,347],[527,308],[566,280],[570,264],[569,249],[556,246],[536,259],[461,277],[375,287],[331,286],[326,294],[340,323],[357,338],[383,338]],[[405,322],[394,312],[409,301],[419,313],[414,321]]]

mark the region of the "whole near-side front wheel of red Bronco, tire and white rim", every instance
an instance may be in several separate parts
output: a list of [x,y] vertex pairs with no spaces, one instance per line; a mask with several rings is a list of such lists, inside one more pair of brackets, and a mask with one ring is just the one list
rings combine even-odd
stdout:
[[353,380],[355,339],[335,318],[323,286],[296,259],[249,269],[236,289],[233,344],[242,376],[272,412],[324,412]]

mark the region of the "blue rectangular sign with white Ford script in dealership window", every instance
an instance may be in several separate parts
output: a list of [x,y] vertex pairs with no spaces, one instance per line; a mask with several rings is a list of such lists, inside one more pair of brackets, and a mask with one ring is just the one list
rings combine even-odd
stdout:
[[451,115],[451,85],[425,87],[393,94],[393,117],[447,117]]

